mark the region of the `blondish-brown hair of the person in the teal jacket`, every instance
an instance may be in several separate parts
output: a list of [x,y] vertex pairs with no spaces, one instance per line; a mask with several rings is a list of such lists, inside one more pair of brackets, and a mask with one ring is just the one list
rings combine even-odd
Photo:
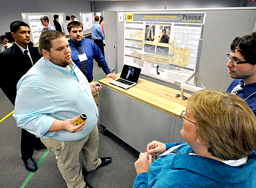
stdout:
[[213,156],[237,160],[256,148],[256,118],[239,96],[204,89],[192,94],[187,106],[198,138]]

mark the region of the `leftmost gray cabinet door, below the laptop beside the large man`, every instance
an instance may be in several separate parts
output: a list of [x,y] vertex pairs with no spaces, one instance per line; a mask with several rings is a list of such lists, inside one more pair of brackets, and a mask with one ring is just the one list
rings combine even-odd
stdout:
[[128,142],[128,97],[102,86],[99,92],[100,123]]

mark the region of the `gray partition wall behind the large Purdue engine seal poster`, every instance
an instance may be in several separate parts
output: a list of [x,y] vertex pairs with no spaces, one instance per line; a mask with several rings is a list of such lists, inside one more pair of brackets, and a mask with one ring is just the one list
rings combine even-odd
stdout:
[[[226,91],[232,82],[226,63],[230,44],[237,36],[251,34],[256,23],[256,7],[243,8],[209,8],[209,9],[170,9],[170,10],[127,10],[125,13],[182,13],[205,12],[203,28],[203,45],[201,51],[199,74],[207,89]],[[107,19],[107,18],[106,18]],[[125,19],[124,19],[125,20]],[[113,19],[114,21],[114,19]],[[124,61],[124,22],[117,22],[117,72],[121,72]],[[173,84],[141,75],[141,78],[180,90]]]

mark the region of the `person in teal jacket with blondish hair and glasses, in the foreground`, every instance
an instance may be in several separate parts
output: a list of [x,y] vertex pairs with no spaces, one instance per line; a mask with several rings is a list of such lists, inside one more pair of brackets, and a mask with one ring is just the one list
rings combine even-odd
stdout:
[[256,118],[243,99],[200,90],[181,119],[186,142],[150,142],[135,162],[133,188],[256,187]]

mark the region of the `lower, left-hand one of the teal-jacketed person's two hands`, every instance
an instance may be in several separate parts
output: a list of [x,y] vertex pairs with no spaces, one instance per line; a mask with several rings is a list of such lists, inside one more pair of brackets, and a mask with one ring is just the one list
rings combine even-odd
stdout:
[[148,152],[145,152],[134,163],[137,175],[141,174],[142,172],[147,172],[148,173],[148,169],[149,169],[149,166],[151,165],[151,163],[152,163],[152,156],[149,155]]

